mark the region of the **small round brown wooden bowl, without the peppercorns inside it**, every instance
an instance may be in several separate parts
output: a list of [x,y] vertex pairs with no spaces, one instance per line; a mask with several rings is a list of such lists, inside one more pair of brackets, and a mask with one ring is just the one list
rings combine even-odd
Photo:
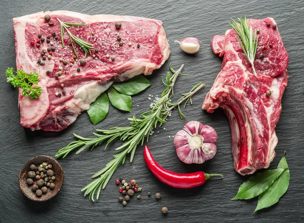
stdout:
[[[38,196],[36,196],[36,194],[34,192],[32,192],[32,190],[31,190],[32,186],[27,185],[26,179],[28,178],[27,173],[28,173],[28,171],[30,171],[30,169],[29,169],[30,165],[34,164],[37,166],[37,165],[42,164],[43,162],[49,162],[49,164],[52,165],[52,170],[54,171],[54,176],[56,177],[55,182],[54,182],[55,188],[54,189],[48,188],[48,192],[46,194],[43,194],[42,196],[38,197]],[[61,185],[63,183],[63,178],[64,178],[64,173],[63,173],[62,167],[57,162],[57,160],[55,160],[52,157],[48,157],[48,156],[37,156],[37,157],[34,157],[34,158],[30,159],[29,161],[27,161],[26,164],[21,169],[21,171],[19,173],[19,187],[20,187],[22,193],[30,200],[47,201],[47,200],[50,200],[51,198],[53,198],[60,191]]]

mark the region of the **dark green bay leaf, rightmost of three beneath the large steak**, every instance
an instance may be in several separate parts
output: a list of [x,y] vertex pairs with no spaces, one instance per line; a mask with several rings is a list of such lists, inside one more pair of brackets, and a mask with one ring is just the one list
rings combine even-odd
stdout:
[[145,90],[150,85],[151,83],[145,77],[138,75],[128,81],[114,83],[112,87],[122,94],[134,95]]

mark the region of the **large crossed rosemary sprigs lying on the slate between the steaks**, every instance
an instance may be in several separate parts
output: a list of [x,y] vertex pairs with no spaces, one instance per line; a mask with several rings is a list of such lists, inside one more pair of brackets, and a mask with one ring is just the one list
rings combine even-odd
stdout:
[[[120,139],[124,143],[116,148],[116,150],[123,150],[121,153],[114,155],[114,159],[111,160],[106,166],[95,173],[92,178],[98,177],[97,179],[90,182],[82,191],[85,191],[85,196],[89,195],[90,200],[94,201],[94,195],[97,191],[96,199],[99,198],[101,189],[104,189],[111,178],[112,174],[117,170],[117,168],[125,163],[126,157],[130,154],[130,162],[134,158],[134,154],[138,144],[143,145],[145,139],[148,141],[149,133],[154,128],[162,126],[163,123],[166,123],[170,111],[174,107],[178,107],[180,118],[185,117],[179,108],[180,104],[184,101],[187,102],[191,100],[191,97],[205,85],[202,83],[197,84],[191,89],[190,92],[183,94],[183,96],[176,102],[171,103],[171,97],[173,96],[173,86],[177,77],[180,75],[180,71],[183,68],[183,65],[175,72],[171,66],[170,70],[173,71],[173,75],[167,73],[166,82],[164,85],[166,89],[163,91],[161,97],[151,105],[151,109],[147,112],[142,113],[139,118],[136,118],[134,115],[130,120],[130,126],[128,127],[115,127],[110,128],[109,130],[99,130],[97,133],[93,133],[96,138],[84,138],[77,134],[74,134],[79,140],[71,142],[66,147],[59,150],[56,154],[56,158],[65,157],[75,148],[80,147],[77,151],[77,154],[85,150],[86,148],[93,148],[97,145],[100,145],[102,142],[107,141],[106,146],[115,139]],[[105,147],[106,147],[105,146]]]

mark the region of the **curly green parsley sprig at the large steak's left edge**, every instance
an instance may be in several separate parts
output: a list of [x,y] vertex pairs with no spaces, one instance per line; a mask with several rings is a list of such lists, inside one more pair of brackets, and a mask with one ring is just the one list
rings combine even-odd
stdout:
[[41,87],[32,87],[39,83],[38,73],[26,73],[24,70],[17,70],[14,75],[14,68],[8,68],[5,71],[7,82],[11,83],[15,88],[22,88],[23,96],[29,96],[30,98],[38,98],[41,94]]

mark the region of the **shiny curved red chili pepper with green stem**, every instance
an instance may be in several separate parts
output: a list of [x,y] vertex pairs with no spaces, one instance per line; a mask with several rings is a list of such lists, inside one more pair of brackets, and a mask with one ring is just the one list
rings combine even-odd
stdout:
[[148,169],[162,182],[170,185],[173,188],[194,188],[198,187],[206,182],[210,176],[221,176],[221,174],[209,174],[203,171],[198,171],[195,173],[175,173],[168,171],[161,167],[151,155],[148,146],[144,146],[143,149],[144,161]]

